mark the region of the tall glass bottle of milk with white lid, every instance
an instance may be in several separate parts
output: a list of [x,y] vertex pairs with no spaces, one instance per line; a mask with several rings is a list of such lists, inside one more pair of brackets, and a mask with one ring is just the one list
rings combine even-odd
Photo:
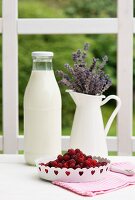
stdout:
[[42,156],[61,153],[61,94],[52,57],[53,52],[32,52],[33,69],[24,94],[24,155],[31,165]]

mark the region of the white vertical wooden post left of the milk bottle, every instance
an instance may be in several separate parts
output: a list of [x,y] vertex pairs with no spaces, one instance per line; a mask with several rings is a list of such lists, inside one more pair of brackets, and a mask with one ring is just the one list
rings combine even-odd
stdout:
[[3,0],[3,133],[4,153],[17,153],[18,40],[17,0]]

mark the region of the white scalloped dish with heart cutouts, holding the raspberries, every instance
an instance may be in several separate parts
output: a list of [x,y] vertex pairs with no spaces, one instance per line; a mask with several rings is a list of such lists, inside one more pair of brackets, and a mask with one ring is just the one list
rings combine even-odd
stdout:
[[89,169],[72,169],[72,168],[55,168],[41,165],[45,163],[44,159],[38,160],[36,163],[39,177],[48,181],[61,181],[61,182],[90,182],[103,179],[110,167],[110,160],[107,158],[93,157],[99,162],[107,162],[107,165],[100,167],[91,167]]

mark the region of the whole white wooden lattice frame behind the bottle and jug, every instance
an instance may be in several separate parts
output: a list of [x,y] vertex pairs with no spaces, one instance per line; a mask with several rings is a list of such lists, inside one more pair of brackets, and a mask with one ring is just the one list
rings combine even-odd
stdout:
[[[23,150],[18,130],[18,34],[117,34],[117,94],[122,100],[118,115],[117,137],[107,137],[109,151],[131,155],[135,151],[132,136],[133,112],[133,0],[118,0],[117,18],[18,19],[18,1],[3,0],[0,32],[3,40],[3,136],[0,150]],[[109,44],[108,44],[109,45]],[[63,150],[69,137],[62,137]]]

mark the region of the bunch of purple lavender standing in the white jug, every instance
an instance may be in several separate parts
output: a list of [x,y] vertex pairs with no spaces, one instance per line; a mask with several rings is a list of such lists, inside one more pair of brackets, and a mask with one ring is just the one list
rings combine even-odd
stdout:
[[89,65],[86,62],[89,44],[85,43],[83,50],[78,49],[72,54],[73,67],[65,64],[68,73],[57,71],[62,78],[59,82],[75,92],[101,95],[111,86],[111,80],[108,74],[104,72],[104,66],[108,61],[108,57],[104,56],[102,60],[93,58]]

